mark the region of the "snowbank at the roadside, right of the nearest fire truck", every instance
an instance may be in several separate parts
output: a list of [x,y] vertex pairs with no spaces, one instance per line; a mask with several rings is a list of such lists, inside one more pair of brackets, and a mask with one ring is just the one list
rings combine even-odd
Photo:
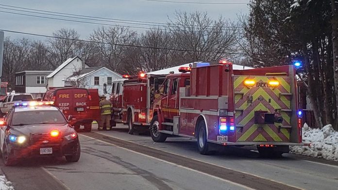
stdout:
[[332,125],[312,129],[305,123],[303,142],[311,143],[311,146],[293,146],[290,153],[338,161],[338,132],[333,130]]

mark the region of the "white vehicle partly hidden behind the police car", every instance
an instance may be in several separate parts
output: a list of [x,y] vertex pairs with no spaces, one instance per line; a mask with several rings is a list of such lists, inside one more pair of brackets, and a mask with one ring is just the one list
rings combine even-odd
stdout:
[[23,101],[32,101],[33,96],[32,94],[27,93],[12,93],[7,95],[1,102],[0,102],[0,117],[3,117],[14,105],[16,102],[23,102]]

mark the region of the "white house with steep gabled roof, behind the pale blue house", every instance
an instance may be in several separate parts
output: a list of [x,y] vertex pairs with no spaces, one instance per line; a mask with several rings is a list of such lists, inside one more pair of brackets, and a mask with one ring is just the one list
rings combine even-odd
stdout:
[[64,87],[65,81],[63,79],[88,67],[79,56],[67,59],[46,77],[48,82],[47,88]]

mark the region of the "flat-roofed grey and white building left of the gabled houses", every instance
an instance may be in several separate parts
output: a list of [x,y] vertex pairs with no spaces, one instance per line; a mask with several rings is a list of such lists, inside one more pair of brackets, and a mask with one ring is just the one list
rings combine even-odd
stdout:
[[15,73],[15,91],[17,93],[31,93],[33,97],[42,98],[46,92],[47,75],[52,71],[25,70]]

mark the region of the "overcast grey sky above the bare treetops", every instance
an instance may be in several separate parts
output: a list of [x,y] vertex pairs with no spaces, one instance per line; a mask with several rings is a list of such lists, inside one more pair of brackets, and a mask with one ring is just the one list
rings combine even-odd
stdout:
[[[186,2],[220,2],[220,3],[247,3],[249,0],[173,0]],[[154,2],[147,0],[0,0],[0,4],[11,5],[23,8],[38,9],[45,11],[61,12],[76,15],[85,15],[93,17],[108,17],[116,19],[128,19],[150,22],[167,22],[168,17],[173,18],[175,10],[177,11],[203,11],[214,19],[222,15],[226,19],[237,20],[237,14],[248,13],[247,4],[184,4],[169,2]],[[29,14],[42,17],[54,17],[50,15],[39,15],[34,13],[25,13],[8,9],[18,9],[0,5],[0,11]],[[23,10],[23,9],[21,9]],[[32,10],[26,10],[32,11]],[[36,11],[34,11],[36,12]],[[79,20],[76,18],[66,18]],[[82,20],[88,22],[101,22],[93,20]],[[108,24],[115,24],[106,22]],[[122,24],[128,26],[140,26],[131,24]],[[51,35],[51,33],[59,28],[73,28],[86,38],[95,28],[100,27],[97,24],[77,23],[71,21],[51,20],[47,18],[28,17],[14,15],[10,13],[0,12],[0,30],[12,30],[26,33],[34,33],[41,35]],[[140,26],[147,27],[147,26]],[[136,31],[144,31],[144,29],[133,29]],[[29,35],[18,35],[13,33],[5,33],[5,36],[11,38],[36,38]],[[38,37],[43,39],[42,37]]]

